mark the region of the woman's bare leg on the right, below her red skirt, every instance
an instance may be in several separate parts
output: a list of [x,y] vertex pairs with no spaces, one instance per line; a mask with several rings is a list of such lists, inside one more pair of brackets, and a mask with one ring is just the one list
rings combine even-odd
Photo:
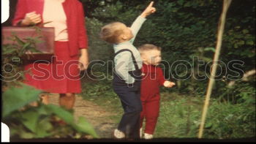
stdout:
[[75,105],[75,94],[59,94],[59,105],[64,106],[67,110],[71,110]]

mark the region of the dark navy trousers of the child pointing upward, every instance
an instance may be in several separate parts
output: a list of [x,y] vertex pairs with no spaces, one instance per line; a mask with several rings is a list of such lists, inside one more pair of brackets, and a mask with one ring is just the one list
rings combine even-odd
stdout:
[[118,124],[118,130],[124,132],[126,138],[140,137],[140,112],[142,105],[140,101],[140,80],[127,85],[126,83],[113,83],[113,90],[119,96],[124,115]]

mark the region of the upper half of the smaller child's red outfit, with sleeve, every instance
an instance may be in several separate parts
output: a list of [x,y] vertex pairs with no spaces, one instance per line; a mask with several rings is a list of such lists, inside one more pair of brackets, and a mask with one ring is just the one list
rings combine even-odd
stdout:
[[159,87],[165,83],[165,77],[160,67],[143,64],[140,99],[144,101],[159,99]]

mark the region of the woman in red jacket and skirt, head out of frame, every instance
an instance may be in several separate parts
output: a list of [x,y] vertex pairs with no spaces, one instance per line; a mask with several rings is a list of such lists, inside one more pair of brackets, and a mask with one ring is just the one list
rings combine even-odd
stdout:
[[50,62],[26,64],[25,83],[60,94],[59,105],[72,109],[81,92],[80,70],[89,64],[83,5],[78,0],[18,0],[13,26],[42,23],[55,28],[55,56]]

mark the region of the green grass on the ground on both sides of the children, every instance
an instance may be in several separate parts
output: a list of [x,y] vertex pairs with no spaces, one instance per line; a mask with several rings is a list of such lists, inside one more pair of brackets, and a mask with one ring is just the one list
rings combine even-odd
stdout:
[[[120,100],[110,80],[85,82],[84,99],[115,113],[110,118],[118,124],[123,114]],[[162,92],[160,113],[154,137],[196,138],[204,104],[204,96]],[[234,139],[255,137],[255,97],[249,102],[231,104],[211,99],[203,138]]]

